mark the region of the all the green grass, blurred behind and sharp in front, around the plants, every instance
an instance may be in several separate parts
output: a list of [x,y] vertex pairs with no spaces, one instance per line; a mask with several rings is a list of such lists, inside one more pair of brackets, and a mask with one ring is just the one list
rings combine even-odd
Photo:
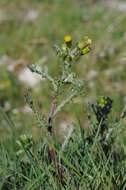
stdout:
[[[24,21],[29,10],[38,11],[33,22]],[[96,97],[107,95],[114,100],[110,127],[115,125],[113,120],[126,102],[126,13],[105,7],[100,2],[92,4],[79,0],[0,0],[1,11],[7,19],[0,17],[0,56],[8,55],[14,61],[23,59],[25,66],[47,57],[45,64],[49,72],[58,75],[59,59],[55,58],[52,47],[61,43],[65,34],[71,34],[75,40],[88,35],[93,47],[92,52],[74,67],[87,83],[85,97],[64,108],[55,121],[59,126],[64,120],[77,120],[78,115],[81,120],[81,124],[77,120],[65,152],[56,143],[57,157],[65,170],[64,182],[57,177],[47,153],[50,145],[43,140],[41,129],[36,129],[33,115],[20,111],[26,105],[27,85],[18,80],[18,72],[10,73],[6,66],[0,65],[0,106],[6,102],[11,105],[9,111],[6,112],[4,106],[0,111],[0,189],[125,189],[124,157],[117,158],[116,165],[112,163],[112,152],[116,150],[124,155],[126,151],[125,120],[114,130],[114,144],[108,157],[98,137],[93,137],[95,146],[87,143],[87,147],[83,147],[90,131],[85,129],[83,134],[80,125],[89,125],[87,102]],[[96,76],[92,76],[92,71]],[[6,86],[8,81],[9,86]],[[42,104],[45,113],[50,107],[50,92],[45,82],[38,91],[32,90],[34,99]],[[96,120],[92,114],[91,117],[90,127],[93,128]],[[24,133],[34,136],[32,151],[35,157],[26,151],[19,159],[16,140]]]

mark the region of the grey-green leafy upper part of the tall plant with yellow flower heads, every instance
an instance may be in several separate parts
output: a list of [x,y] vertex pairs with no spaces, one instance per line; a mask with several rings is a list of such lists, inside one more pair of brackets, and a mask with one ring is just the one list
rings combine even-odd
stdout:
[[[57,100],[63,95],[62,99],[58,105],[56,105],[53,113],[51,114],[51,119],[57,115],[58,112],[62,111],[62,108],[67,105],[73,98],[84,93],[84,81],[79,79],[76,73],[72,71],[73,64],[84,54],[87,54],[91,49],[91,39],[85,37],[82,41],[73,43],[72,37],[66,35],[64,37],[64,44],[62,46],[55,45],[55,50],[57,55],[61,59],[60,68],[61,72],[58,76],[52,77],[46,66],[41,66],[37,64],[29,65],[29,69],[33,73],[37,73],[41,78],[46,79],[52,85],[52,97]],[[37,63],[41,63],[39,60]],[[45,117],[41,117],[40,113],[36,111],[34,103],[30,100],[31,97],[27,96],[26,100],[30,107],[34,111],[37,120],[45,124]],[[52,108],[53,109],[53,108]],[[41,114],[42,115],[42,114]],[[43,118],[43,121],[42,121]],[[48,125],[48,124],[47,124]],[[43,125],[42,125],[43,126]]]

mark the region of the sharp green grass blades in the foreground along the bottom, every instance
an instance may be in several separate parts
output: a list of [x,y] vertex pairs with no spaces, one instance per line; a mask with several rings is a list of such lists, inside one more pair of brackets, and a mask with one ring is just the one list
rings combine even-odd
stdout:
[[[91,126],[94,128],[96,124]],[[18,155],[15,155],[13,142],[9,141],[10,147],[6,149],[5,144],[1,144],[1,189],[124,190],[125,148],[117,128],[123,130],[124,126],[115,123],[114,143],[106,155],[99,141],[99,129],[89,140],[82,126],[75,125],[65,150],[55,144],[59,170],[49,154],[53,144],[48,144],[46,139],[37,140],[28,148],[23,146],[24,153]]]

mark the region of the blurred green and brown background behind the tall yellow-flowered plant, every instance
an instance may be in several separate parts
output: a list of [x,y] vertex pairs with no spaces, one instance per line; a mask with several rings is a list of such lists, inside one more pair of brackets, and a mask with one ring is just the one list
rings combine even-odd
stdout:
[[60,60],[53,45],[61,44],[65,34],[71,34],[75,42],[88,35],[93,47],[74,68],[87,82],[83,105],[74,102],[58,119],[72,119],[77,112],[85,118],[87,103],[100,95],[112,97],[114,114],[122,110],[126,103],[126,1],[0,0],[1,141],[10,138],[10,131],[38,135],[24,94],[30,88],[40,109],[48,114],[51,89],[27,65],[42,59],[50,74],[57,75]]

